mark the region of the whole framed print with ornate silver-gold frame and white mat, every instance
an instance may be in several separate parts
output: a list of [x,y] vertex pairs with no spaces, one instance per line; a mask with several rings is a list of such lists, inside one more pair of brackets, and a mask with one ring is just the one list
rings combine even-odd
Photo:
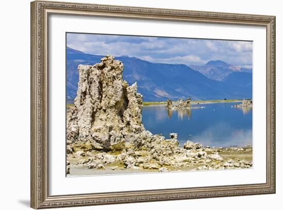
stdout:
[[275,16],[31,3],[31,207],[275,193]]

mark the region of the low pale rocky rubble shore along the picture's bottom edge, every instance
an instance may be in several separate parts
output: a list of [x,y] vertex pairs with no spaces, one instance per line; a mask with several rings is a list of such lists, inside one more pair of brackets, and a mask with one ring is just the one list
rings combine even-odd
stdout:
[[[174,134],[173,134],[174,135]],[[169,140],[171,141],[171,140]],[[175,141],[175,139],[172,139]],[[134,151],[128,145],[123,151],[83,151],[82,145],[68,151],[68,176],[83,174],[128,173],[128,172],[167,172],[188,170],[218,170],[251,168],[252,147],[210,148],[187,141],[183,148],[174,154],[157,156],[151,151]],[[87,148],[87,146],[85,146]],[[70,165],[73,165],[70,167]],[[76,168],[84,169],[82,174]],[[72,171],[74,170],[74,172]],[[86,171],[85,170],[90,170]],[[134,170],[134,171],[133,171]],[[83,170],[82,170],[83,171]]]

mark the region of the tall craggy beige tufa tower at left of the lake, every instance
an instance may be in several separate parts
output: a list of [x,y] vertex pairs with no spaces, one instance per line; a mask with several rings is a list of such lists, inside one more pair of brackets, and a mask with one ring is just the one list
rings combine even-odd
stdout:
[[127,136],[145,130],[136,83],[129,86],[122,79],[123,64],[112,56],[78,70],[75,106],[67,116],[68,141],[88,142],[94,149],[123,148]]

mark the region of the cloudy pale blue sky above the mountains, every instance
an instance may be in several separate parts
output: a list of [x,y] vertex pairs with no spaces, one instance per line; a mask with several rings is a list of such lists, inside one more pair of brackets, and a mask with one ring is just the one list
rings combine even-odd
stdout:
[[93,55],[137,57],[154,63],[204,65],[210,60],[252,66],[253,43],[67,33],[67,46]]

